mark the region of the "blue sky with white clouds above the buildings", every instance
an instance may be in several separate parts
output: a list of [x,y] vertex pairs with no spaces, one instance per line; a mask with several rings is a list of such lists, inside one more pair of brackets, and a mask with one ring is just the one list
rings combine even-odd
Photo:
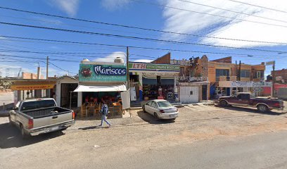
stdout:
[[[150,62],[170,52],[174,59],[206,55],[211,61],[232,56],[234,63],[276,61],[276,70],[286,68],[287,1],[283,0],[10,0],[0,1],[0,7],[97,22],[0,8],[1,76],[16,75],[20,68],[36,73],[38,65],[46,75],[46,56],[50,58],[49,76],[75,75],[84,58],[98,62],[110,62],[116,57],[125,59],[125,46],[130,46],[129,61]],[[271,70],[272,66],[267,65],[265,75]]]

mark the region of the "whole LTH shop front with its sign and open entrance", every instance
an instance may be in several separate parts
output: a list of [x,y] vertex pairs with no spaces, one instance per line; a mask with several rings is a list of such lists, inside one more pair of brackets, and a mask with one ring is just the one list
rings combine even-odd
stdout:
[[131,101],[175,99],[179,65],[129,63]]

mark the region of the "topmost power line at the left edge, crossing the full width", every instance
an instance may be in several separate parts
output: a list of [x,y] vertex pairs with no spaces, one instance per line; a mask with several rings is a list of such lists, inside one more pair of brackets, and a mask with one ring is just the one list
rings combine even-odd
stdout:
[[34,12],[34,11],[24,11],[20,10],[17,8],[7,8],[4,6],[0,6],[2,9],[10,10],[10,11],[18,11],[18,12],[23,12],[23,13],[32,13],[36,15],[46,15],[50,17],[55,17],[55,18],[63,18],[63,19],[68,19],[68,20],[78,20],[82,22],[87,22],[87,23],[96,23],[96,24],[101,24],[101,25],[112,25],[112,26],[117,26],[117,27],[126,27],[126,28],[132,28],[132,29],[137,29],[137,30],[147,30],[147,31],[152,31],[152,32],[162,32],[162,33],[169,33],[169,34],[175,34],[175,35],[187,35],[187,36],[193,36],[193,37],[206,37],[206,38],[212,38],[212,39],[226,39],[226,40],[233,40],[233,41],[242,41],[242,42],[256,42],[256,43],[267,43],[267,44],[287,44],[286,42],[265,42],[265,41],[256,41],[256,40],[248,40],[248,39],[233,39],[233,38],[227,38],[227,37],[211,37],[211,36],[204,36],[204,35],[192,35],[192,34],[187,34],[187,33],[181,33],[181,32],[172,32],[172,31],[165,31],[165,30],[155,30],[151,28],[146,28],[146,27],[136,27],[136,26],[131,26],[131,25],[120,25],[120,24],[115,24],[115,23],[104,23],[96,20],[86,20],[86,19],[79,19],[79,18],[70,18],[66,17],[63,15],[53,15],[49,13],[39,13],[39,12]]

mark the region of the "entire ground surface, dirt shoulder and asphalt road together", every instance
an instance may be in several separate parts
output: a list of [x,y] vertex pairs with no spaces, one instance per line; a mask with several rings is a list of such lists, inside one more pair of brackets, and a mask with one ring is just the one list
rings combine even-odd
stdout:
[[78,118],[64,132],[20,139],[0,118],[0,168],[286,168],[287,115],[188,106],[177,120]]

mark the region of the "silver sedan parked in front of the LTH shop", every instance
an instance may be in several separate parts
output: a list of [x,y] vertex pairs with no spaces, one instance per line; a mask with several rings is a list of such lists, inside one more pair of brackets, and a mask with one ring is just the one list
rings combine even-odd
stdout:
[[172,106],[170,102],[156,99],[142,105],[143,111],[150,113],[157,119],[175,119],[179,116],[179,110]]

